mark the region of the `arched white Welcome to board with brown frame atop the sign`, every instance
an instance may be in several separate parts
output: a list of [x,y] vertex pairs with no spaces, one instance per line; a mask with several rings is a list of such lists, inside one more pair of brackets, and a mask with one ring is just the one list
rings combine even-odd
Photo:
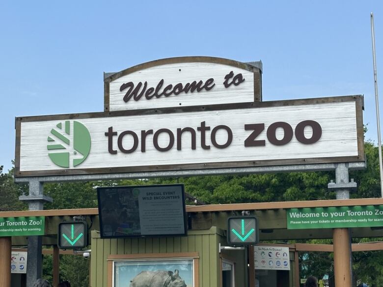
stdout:
[[262,100],[262,62],[188,56],[139,64],[104,76],[105,111]]

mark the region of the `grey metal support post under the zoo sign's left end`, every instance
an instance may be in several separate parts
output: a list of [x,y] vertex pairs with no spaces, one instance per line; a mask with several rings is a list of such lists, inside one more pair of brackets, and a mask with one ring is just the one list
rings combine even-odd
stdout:
[[[29,179],[29,195],[23,194],[19,200],[27,201],[29,210],[44,209],[44,202],[52,202],[52,198],[43,195],[43,183],[38,178]],[[42,276],[42,236],[28,236],[27,287],[33,287]]]

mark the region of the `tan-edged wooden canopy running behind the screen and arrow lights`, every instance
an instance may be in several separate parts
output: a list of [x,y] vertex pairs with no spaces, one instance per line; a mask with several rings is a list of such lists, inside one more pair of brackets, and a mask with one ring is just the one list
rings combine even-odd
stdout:
[[[191,230],[210,229],[212,226],[217,226],[222,230],[226,230],[227,217],[232,215],[240,215],[241,211],[248,210],[250,211],[250,215],[255,215],[259,219],[259,236],[260,240],[262,241],[332,238],[332,228],[296,230],[287,229],[287,209],[326,208],[342,206],[378,207],[379,205],[383,205],[383,198],[187,206],[186,211],[190,216],[189,229]],[[44,245],[57,244],[58,223],[63,220],[72,220],[73,216],[79,215],[84,216],[88,222],[88,226],[90,226],[90,230],[100,230],[98,209],[96,208],[0,212],[0,217],[45,216],[46,231],[45,235],[43,236]],[[351,236],[354,238],[383,237],[383,226],[351,228]],[[13,236],[12,245],[27,245],[27,237]]]

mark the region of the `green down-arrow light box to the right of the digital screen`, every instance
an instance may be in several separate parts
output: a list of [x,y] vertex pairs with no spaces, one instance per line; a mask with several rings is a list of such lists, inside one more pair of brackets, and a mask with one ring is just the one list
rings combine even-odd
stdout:
[[254,216],[229,217],[227,242],[231,245],[254,245],[259,242],[258,219]]

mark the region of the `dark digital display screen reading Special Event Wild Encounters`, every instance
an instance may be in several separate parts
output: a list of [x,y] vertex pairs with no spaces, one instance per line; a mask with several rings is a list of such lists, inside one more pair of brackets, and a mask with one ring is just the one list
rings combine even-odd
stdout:
[[98,187],[101,238],[187,235],[183,184]]

